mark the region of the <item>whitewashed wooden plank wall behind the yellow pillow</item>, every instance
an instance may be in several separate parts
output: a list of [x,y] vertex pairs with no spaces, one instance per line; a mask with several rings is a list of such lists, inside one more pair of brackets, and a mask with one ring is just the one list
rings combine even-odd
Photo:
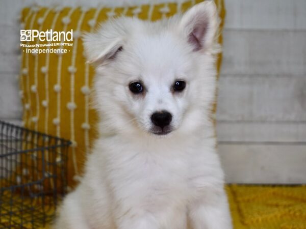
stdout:
[[[33,3],[94,7],[102,2],[126,3],[0,0],[0,119],[18,123],[21,118],[20,9]],[[226,180],[306,183],[306,1],[225,3],[217,131]]]

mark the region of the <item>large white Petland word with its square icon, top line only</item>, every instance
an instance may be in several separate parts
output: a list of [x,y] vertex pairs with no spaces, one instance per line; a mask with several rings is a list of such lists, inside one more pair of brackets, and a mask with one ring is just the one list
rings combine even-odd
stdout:
[[20,41],[34,41],[36,38],[39,41],[48,42],[66,42],[73,41],[73,31],[57,32],[53,30],[38,31],[38,30],[20,30]]

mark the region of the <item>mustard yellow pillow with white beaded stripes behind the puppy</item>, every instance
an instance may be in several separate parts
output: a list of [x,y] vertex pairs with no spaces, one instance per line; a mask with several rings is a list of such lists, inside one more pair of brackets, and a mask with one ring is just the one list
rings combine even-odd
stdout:
[[[93,31],[100,22],[112,16],[137,16],[143,20],[155,21],[185,12],[199,2],[202,0],[128,8],[23,9],[23,30],[73,30],[73,46],[63,47],[67,53],[27,53],[27,48],[22,47],[20,73],[24,126],[72,141],[68,160],[70,187],[80,179],[85,155],[90,151],[92,139],[97,137],[95,126],[98,119],[95,110],[90,107],[89,99],[94,70],[85,61],[81,33]],[[215,2],[221,18],[221,32],[225,16],[223,0]],[[222,36],[219,39],[221,43]],[[22,44],[44,45],[48,42],[35,39]],[[220,64],[221,55],[218,69]]]

